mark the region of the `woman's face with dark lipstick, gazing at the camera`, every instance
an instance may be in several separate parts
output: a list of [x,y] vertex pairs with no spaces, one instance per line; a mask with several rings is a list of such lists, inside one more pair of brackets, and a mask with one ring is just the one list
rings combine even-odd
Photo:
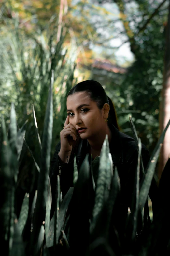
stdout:
[[78,133],[82,139],[90,139],[98,131],[101,132],[106,125],[103,109],[99,110],[96,102],[92,101],[86,92],[77,92],[68,96],[67,114],[76,130],[80,127],[86,128],[85,131]]

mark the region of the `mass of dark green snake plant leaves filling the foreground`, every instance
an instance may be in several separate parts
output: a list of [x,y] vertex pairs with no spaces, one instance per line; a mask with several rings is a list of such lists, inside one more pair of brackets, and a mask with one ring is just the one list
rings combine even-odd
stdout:
[[[136,178],[134,193],[132,195],[131,209],[121,209],[120,179],[117,167],[113,168],[110,158],[108,138],[104,140],[98,165],[91,162],[87,154],[78,179],[74,179],[74,188],[70,188],[62,199],[60,193],[60,181],[57,177],[56,208],[54,216],[50,220],[51,190],[48,176],[50,166],[50,151],[52,141],[53,77],[51,78],[44,129],[42,137],[42,150],[40,157],[40,169],[37,170],[38,191],[34,200],[25,195],[19,218],[16,217],[16,187],[18,173],[18,156],[20,154],[23,138],[21,132],[17,133],[17,123],[14,105],[11,106],[10,127],[7,132],[4,118],[1,119],[1,193],[4,195],[1,203],[1,241],[2,250],[6,255],[55,255],[64,253],[70,255],[162,255],[169,251],[169,235],[164,234],[169,219],[164,220],[168,214],[168,208],[162,206],[162,196],[168,197],[169,191],[164,194],[164,183],[167,180],[170,164],[168,160],[158,194],[158,210],[150,223],[143,219],[142,227],[139,226],[138,217],[141,216],[143,207],[147,201],[149,187],[154,175],[155,165],[158,160],[160,148],[165,132],[170,125],[170,120],[159,138],[153,151],[148,166],[142,173],[141,186],[139,188],[139,170],[142,164],[141,140],[137,136],[135,125],[130,117],[130,123],[134,139],[138,149],[138,164],[136,166]],[[36,119],[36,117],[35,117]],[[25,124],[23,128],[25,129]],[[36,128],[35,128],[36,129]],[[37,137],[38,133],[36,131]],[[24,136],[24,134],[23,134]],[[20,140],[20,141],[19,141]],[[22,142],[22,143],[21,143]],[[21,157],[21,156],[20,156]],[[105,164],[107,163],[107,165]],[[97,167],[98,166],[98,167]],[[74,164],[74,172],[77,166]],[[93,173],[97,174],[94,180]],[[74,176],[76,177],[76,176]],[[29,199],[29,200],[28,200]],[[121,211],[121,214],[120,214]],[[116,225],[120,215],[124,216],[126,227]],[[143,217],[145,218],[145,217]],[[121,221],[121,220],[119,220]],[[138,230],[138,233],[136,231]],[[118,234],[122,234],[119,236]],[[164,241],[158,243],[163,235]],[[114,243],[112,242],[114,239]]]

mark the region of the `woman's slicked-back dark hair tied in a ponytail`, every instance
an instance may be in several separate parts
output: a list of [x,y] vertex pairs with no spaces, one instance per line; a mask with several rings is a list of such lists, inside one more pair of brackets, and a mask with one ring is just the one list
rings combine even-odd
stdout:
[[99,82],[94,80],[86,80],[80,82],[71,88],[67,94],[67,97],[77,92],[87,92],[90,96],[90,99],[97,103],[99,109],[102,109],[103,105],[108,103],[110,105],[108,125],[113,124],[118,129],[118,131],[120,130],[114,104],[112,100],[107,96],[104,88]]

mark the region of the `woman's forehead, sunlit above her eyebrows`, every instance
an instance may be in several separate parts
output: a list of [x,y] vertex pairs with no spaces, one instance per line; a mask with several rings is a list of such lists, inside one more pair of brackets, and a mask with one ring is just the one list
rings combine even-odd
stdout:
[[[73,95],[68,96],[67,98],[67,108],[69,107],[76,107],[80,104],[93,104],[93,101],[90,99],[89,94],[86,92],[77,92]],[[70,106],[71,105],[71,106]]]

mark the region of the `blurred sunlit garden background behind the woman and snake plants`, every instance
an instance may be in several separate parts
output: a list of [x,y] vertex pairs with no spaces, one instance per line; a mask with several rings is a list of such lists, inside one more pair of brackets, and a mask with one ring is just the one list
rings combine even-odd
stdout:
[[[152,154],[167,124],[160,115],[170,113],[166,104],[160,107],[168,6],[166,0],[0,1],[0,112],[8,126],[14,102],[18,127],[28,119],[25,140],[38,164],[32,105],[42,136],[52,70],[51,156],[66,119],[66,94],[87,79],[102,84],[115,105],[120,131],[130,136],[132,116],[138,137]],[[18,178],[25,192],[32,189],[36,168],[28,146],[23,146]]]

